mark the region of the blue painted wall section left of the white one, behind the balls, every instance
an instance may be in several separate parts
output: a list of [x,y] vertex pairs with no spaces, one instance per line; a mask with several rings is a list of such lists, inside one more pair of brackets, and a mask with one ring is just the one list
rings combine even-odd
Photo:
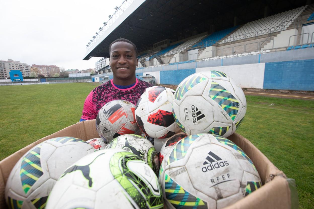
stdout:
[[160,84],[178,85],[183,79],[193,73],[195,73],[195,68],[160,71]]

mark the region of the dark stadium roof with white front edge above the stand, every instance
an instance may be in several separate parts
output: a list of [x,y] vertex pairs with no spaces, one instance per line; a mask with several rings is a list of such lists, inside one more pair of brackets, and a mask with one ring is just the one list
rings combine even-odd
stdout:
[[242,25],[263,18],[264,13],[270,16],[303,5],[305,0],[135,0],[95,41],[83,60],[109,57],[109,45],[117,38],[129,39],[141,50],[165,39],[178,41],[219,31],[233,27],[235,21]]

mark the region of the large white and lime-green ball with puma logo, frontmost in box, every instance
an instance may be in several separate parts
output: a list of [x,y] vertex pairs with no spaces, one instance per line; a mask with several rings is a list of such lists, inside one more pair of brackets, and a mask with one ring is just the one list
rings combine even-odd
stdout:
[[105,149],[69,167],[53,187],[51,208],[162,208],[160,184],[154,171],[137,155]]

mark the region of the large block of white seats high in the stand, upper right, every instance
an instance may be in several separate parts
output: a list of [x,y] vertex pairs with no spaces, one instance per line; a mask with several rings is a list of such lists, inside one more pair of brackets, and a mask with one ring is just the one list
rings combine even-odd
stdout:
[[294,23],[294,20],[304,11],[306,6],[246,23],[221,41],[220,44],[286,30],[289,25]]

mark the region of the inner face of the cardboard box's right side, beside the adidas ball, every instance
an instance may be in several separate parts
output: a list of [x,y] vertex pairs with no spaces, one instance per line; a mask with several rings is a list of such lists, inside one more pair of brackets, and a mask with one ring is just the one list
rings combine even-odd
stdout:
[[268,158],[249,140],[237,133],[234,133],[227,138],[241,147],[246,155],[250,157],[261,177],[263,184],[272,180],[275,176],[285,177],[284,173],[276,168],[276,166],[274,166],[274,164],[270,162],[270,160],[268,160]]

